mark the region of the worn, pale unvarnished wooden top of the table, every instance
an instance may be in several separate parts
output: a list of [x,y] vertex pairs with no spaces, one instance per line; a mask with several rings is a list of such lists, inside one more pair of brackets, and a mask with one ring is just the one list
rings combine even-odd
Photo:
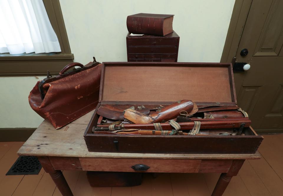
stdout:
[[44,120],[34,131],[18,155],[54,157],[140,158],[140,159],[259,159],[260,154],[144,154],[89,152],[83,137],[93,111],[72,123],[55,129]]

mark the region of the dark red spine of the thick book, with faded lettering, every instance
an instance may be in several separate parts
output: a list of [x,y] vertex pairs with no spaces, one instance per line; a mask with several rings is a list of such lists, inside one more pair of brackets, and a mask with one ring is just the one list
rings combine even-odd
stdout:
[[127,28],[129,33],[164,36],[162,18],[128,16]]

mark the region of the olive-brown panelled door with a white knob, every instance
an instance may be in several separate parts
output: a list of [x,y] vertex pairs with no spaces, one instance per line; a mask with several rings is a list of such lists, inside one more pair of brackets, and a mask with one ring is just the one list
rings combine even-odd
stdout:
[[[250,70],[234,73],[238,105],[257,132],[283,132],[283,1],[252,1],[236,52]],[[241,56],[242,49],[248,49]]]

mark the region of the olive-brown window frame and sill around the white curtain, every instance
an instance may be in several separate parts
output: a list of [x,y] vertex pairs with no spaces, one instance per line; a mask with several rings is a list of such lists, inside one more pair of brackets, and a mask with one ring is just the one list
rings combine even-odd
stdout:
[[57,75],[63,67],[72,63],[68,35],[59,0],[42,0],[50,23],[58,37],[61,52],[29,53],[11,55],[0,54],[0,76],[34,76],[46,75],[47,70]]

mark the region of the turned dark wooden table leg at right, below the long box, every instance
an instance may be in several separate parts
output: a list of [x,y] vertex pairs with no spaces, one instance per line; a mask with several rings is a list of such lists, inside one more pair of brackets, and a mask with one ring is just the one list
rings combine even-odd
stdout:
[[214,187],[214,190],[211,196],[221,196],[226,187],[228,186],[229,182],[231,181],[233,176],[236,176],[241,169],[245,160],[234,160],[231,164],[230,169],[227,173],[222,173],[218,179],[217,184]]

